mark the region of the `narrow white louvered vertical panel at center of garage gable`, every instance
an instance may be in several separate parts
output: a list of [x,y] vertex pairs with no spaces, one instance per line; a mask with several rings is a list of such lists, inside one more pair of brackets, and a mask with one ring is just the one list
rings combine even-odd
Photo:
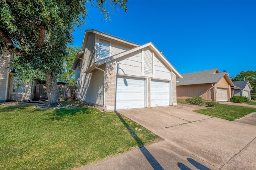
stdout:
[[153,54],[149,48],[144,49],[144,76],[153,77]]

